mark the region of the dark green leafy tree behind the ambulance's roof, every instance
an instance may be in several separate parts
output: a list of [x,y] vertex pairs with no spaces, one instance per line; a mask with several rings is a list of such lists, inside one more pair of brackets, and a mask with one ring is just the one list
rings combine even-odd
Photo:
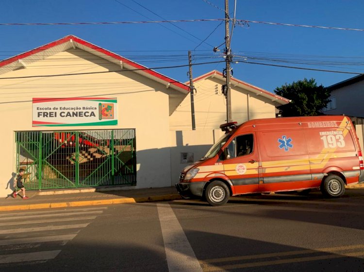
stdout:
[[286,83],[277,87],[274,92],[291,100],[290,103],[278,107],[285,117],[321,115],[320,110],[330,102],[330,91],[322,85],[317,86],[314,78],[305,78],[288,85]]

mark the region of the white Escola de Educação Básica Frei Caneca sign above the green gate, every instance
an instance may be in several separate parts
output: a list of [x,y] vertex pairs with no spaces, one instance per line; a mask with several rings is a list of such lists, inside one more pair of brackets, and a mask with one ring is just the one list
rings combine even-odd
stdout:
[[117,125],[112,97],[33,98],[33,127]]

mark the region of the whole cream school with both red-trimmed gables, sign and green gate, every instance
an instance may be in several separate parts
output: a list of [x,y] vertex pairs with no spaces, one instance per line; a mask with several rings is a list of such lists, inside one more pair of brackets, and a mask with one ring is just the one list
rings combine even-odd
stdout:
[[[170,186],[222,135],[225,78],[189,86],[69,35],[0,61],[0,195],[19,168],[30,190],[123,185]],[[289,103],[232,78],[232,118],[275,117]]]

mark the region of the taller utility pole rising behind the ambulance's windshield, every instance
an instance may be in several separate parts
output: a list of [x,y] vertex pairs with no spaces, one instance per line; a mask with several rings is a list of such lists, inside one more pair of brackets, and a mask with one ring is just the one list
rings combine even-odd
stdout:
[[229,37],[229,0],[225,0],[225,54],[226,54],[226,122],[232,122],[232,94],[231,94],[231,68],[232,61]]

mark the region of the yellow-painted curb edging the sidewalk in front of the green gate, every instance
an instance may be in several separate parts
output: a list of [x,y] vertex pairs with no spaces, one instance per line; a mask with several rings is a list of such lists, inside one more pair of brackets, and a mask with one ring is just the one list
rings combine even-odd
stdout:
[[0,206],[0,212],[10,212],[19,210],[35,210],[35,209],[52,209],[65,207],[80,207],[80,206],[96,206],[96,205],[111,205],[111,204],[126,204],[136,202],[153,202],[181,199],[180,195],[164,195],[164,196],[144,196],[144,197],[124,197],[102,200],[84,200],[84,201],[68,201],[54,203],[38,203],[25,205]]

